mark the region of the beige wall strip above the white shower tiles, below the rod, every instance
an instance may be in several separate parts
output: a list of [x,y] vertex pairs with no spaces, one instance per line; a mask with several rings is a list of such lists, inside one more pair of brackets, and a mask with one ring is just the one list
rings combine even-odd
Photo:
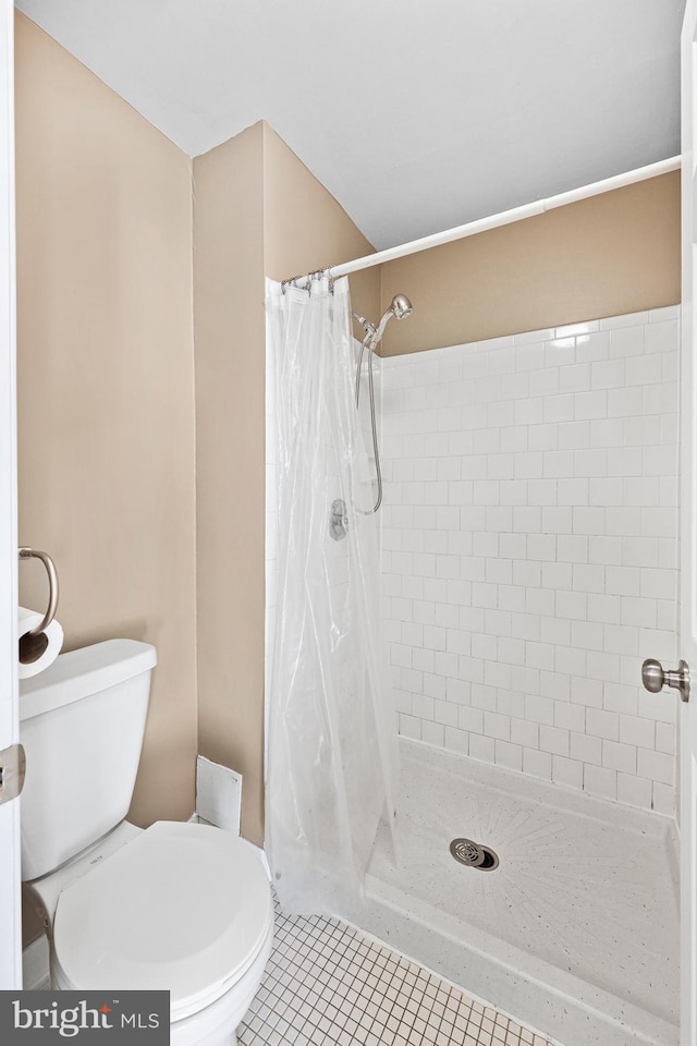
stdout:
[[382,266],[407,323],[384,354],[462,344],[680,301],[680,172]]

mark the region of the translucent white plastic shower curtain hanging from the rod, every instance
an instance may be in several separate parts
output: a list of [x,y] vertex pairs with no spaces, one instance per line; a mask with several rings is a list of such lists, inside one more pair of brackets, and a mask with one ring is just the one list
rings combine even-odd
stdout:
[[[347,280],[267,287],[279,464],[266,841],[283,909],[331,913],[360,895],[380,817],[394,816],[372,473]],[[339,499],[346,533],[335,540]]]

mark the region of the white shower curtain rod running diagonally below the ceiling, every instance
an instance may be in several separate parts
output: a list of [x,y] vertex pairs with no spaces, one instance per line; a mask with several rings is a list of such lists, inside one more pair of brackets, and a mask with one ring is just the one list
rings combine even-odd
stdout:
[[[412,240],[396,247],[388,247],[386,251],[378,251],[376,254],[368,254],[363,258],[345,262],[343,265],[332,265],[326,271],[334,279],[340,276],[351,276],[352,272],[368,269],[374,265],[382,265],[384,262],[404,258],[407,254],[417,254],[419,251],[428,251],[429,247],[439,247],[444,243],[464,240],[465,236],[474,236],[478,232],[487,232],[487,230],[497,229],[499,226],[508,226],[513,221],[533,218],[535,215],[543,215],[547,210],[564,207],[566,204],[575,204],[577,200],[587,199],[589,196],[598,196],[600,193],[608,193],[613,188],[623,188],[625,185],[643,182],[647,178],[668,174],[669,171],[680,170],[680,167],[681,157],[672,156],[668,160],[659,160],[658,163],[649,163],[647,167],[638,167],[636,170],[627,171],[624,174],[614,174],[612,178],[604,178],[600,182],[582,185],[580,188],[573,188],[568,193],[559,193],[557,196],[549,196],[547,199],[538,199],[533,204],[524,204],[522,207],[502,210],[500,214],[490,215],[488,218],[478,218],[464,226],[455,226],[453,229],[445,229],[443,232],[436,232],[430,236],[421,236],[420,240]],[[299,281],[302,283],[308,278],[309,276],[295,277],[292,282]]]

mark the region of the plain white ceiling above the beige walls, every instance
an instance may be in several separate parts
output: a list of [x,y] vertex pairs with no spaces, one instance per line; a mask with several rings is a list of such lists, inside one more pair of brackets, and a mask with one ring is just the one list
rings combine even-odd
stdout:
[[16,5],[191,156],[267,120],[377,247],[680,153],[685,0]]

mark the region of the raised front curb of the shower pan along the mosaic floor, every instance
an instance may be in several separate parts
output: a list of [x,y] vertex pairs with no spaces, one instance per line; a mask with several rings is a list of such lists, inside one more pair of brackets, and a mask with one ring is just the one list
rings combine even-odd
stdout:
[[366,878],[360,907],[343,914],[463,992],[536,1025],[564,1046],[680,1046],[675,1024],[372,876]]

